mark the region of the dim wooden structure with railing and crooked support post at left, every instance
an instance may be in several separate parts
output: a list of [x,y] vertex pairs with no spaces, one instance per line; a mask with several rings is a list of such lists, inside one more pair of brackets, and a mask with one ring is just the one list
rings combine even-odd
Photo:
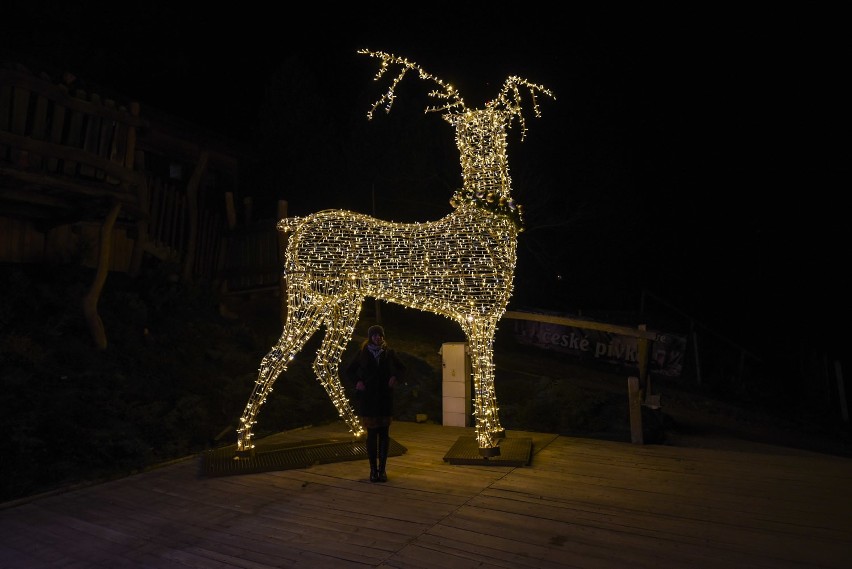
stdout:
[[136,275],[154,257],[183,280],[218,277],[244,160],[156,109],[0,64],[0,262],[95,269],[84,310],[105,347],[96,305],[109,272]]

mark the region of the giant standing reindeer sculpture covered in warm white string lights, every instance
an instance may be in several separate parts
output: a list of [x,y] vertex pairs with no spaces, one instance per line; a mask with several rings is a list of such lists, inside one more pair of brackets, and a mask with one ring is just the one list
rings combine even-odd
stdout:
[[287,319],[281,338],[263,358],[254,391],[240,418],[237,457],[251,454],[252,425],[277,377],[325,326],[313,369],[340,417],[360,437],[364,429],[344,393],[339,365],[368,297],[445,316],[464,331],[474,380],[476,440],[482,456],[500,454],[504,431],[494,393],[493,341],[497,322],[512,294],[521,208],[511,197],[506,131],[513,119],[526,131],[521,93],[529,91],[540,116],[536,92],[544,87],[509,77],[484,109],[467,109],[451,86],[407,59],[360,50],[381,61],[375,80],[394,66],[401,68],[388,91],[367,113],[384,104],[389,112],[394,89],[408,71],[432,80],[442,99],[426,112],[443,112],[456,129],[464,187],[451,204],[455,210],[438,221],[393,223],[359,213],[327,210],[281,220],[290,234],[286,249]]

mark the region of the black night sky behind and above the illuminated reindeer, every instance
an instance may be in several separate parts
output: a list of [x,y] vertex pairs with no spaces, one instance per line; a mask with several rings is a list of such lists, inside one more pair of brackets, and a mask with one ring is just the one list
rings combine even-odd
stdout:
[[[273,6],[18,2],[4,57],[71,70],[233,137],[256,209],[449,212],[452,128],[410,75],[387,115],[370,48],[480,107],[509,75],[552,89],[515,123],[527,208],[512,307],[638,308],[643,290],[761,355],[845,354],[838,15],[500,2]],[[372,203],[376,198],[376,205]],[[263,214],[259,214],[263,216]]]

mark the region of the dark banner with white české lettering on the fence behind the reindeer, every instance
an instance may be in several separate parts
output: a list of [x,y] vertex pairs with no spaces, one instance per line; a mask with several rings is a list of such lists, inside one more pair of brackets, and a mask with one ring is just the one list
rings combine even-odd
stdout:
[[[514,320],[513,333],[520,344],[639,370],[639,343],[633,336],[534,320]],[[657,339],[649,342],[648,371],[658,376],[680,377],[686,336],[658,333]]]

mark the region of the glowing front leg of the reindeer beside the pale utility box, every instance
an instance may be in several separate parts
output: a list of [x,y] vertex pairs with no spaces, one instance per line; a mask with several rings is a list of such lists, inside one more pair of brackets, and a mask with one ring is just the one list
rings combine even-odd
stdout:
[[494,391],[494,333],[496,322],[472,321],[462,325],[470,346],[473,369],[474,415],[479,454],[485,457],[500,454],[499,440],[506,434],[500,426],[497,396]]

